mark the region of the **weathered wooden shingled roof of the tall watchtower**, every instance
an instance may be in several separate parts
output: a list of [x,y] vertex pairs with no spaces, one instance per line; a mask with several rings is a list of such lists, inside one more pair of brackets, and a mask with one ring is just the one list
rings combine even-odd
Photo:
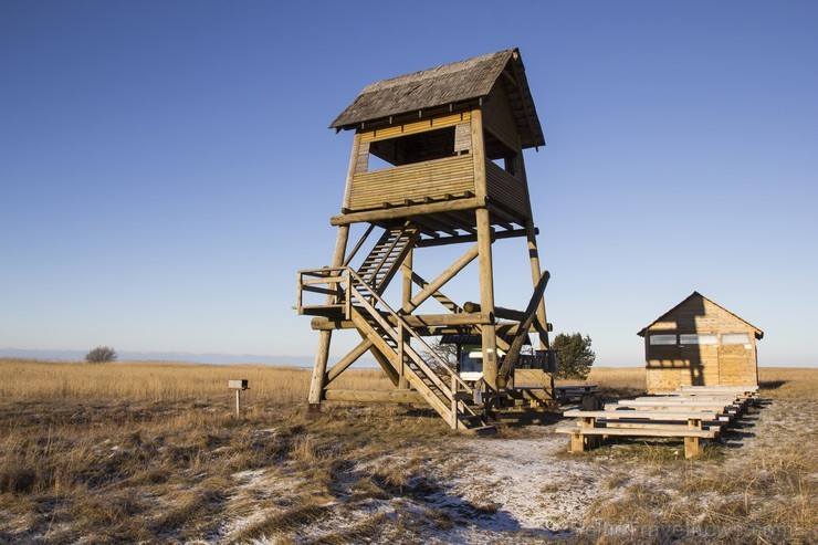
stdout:
[[479,103],[489,96],[503,72],[507,77],[501,81],[514,111],[523,148],[544,146],[543,129],[516,49],[373,83],[364,87],[329,127],[354,129],[392,116]]

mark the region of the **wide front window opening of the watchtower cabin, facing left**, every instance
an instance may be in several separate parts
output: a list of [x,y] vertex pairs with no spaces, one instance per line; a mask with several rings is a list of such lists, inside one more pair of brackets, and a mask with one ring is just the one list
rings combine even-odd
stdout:
[[367,170],[411,165],[454,155],[454,127],[416,133],[369,144]]

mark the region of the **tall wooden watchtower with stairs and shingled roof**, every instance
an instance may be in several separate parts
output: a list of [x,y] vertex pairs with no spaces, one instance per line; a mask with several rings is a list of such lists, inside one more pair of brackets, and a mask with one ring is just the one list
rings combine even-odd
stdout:
[[[315,316],[319,332],[311,409],[324,400],[426,402],[452,428],[485,426],[503,399],[521,395],[511,377],[528,332],[537,333],[542,350],[525,365],[542,369],[541,399],[553,399],[543,298],[548,273],[541,270],[523,161],[523,149],[545,139],[520,52],[374,83],[331,128],[355,137],[340,213],[331,218],[338,228],[332,264],[298,271],[297,311]],[[364,233],[352,241],[355,224]],[[525,310],[494,301],[492,244],[511,238],[527,243],[521,265],[531,270],[533,295]],[[465,250],[442,270],[429,275],[413,268],[417,252],[454,244]],[[474,261],[475,301],[448,297],[445,284]],[[387,291],[396,276],[399,285]],[[440,312],[418,314],[426,302],[439,303]],[[331,338],[340,329],[355,331],[360,342],[328,369]],[[464,378],[459,364],[431,349],[429,337],[441,335],[479,339],[476,379],[473,368]],[[395,389],[332,388],[366,353]]]

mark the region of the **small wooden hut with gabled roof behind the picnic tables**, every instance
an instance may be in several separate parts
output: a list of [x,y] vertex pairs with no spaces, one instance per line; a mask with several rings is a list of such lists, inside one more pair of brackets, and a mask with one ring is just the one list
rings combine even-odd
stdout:
[[757,386],[764,332],[699,292],[638,333],[648,392],[690,386]]

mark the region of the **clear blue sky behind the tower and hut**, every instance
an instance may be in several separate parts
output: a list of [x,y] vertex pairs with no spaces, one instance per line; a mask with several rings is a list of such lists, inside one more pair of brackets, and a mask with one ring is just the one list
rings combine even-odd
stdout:
[[[698,290],[764,329],[762,365],[817,365],[812,1],[2,0],[0,348],[311,356],[295,271],[331,260],[352,145],[326,127],[514,46],[555,331],[640,365]],[[497,303],[523,307],[515,244]]]

